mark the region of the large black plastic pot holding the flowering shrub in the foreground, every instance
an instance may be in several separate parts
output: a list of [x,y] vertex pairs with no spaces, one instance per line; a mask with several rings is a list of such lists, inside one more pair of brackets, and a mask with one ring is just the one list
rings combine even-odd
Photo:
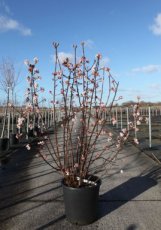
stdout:
[[[97,178],[93,176],[93,178]],[[101,180],[96,185],[72,188],[62,180],[65,214],[67,219],[77,225],[88,225],[98,218],[98,197]]]

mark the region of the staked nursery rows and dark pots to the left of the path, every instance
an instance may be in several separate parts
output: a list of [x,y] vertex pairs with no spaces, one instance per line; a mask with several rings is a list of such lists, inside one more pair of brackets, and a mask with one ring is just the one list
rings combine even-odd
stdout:
[[[0,114],[0,161],[8,162],[11,155],[19,148],[27,144],[28,139],[31,141],[34,139],[33,131],[30,130],[29,124],[32,118],[27,117],[25,124],[21,129],[17,129],[18,119],[21,117],[19,113],[8,113],[4,122],[4,113]],[[57,121],[59,117],[57,116]],[[31,119],[31,120],[30,120]],[[53,113],[51,110],[46,109],[42,111],[42,116],[37,121],[37,127],[39,122],[43,122],[45,127],[50,131],[53,130]],[[36,123],[35,123],[36,124]],[[16,138],[16,134],[22,134],[20,140]],[[7,139],[7,140],[5,140]]]

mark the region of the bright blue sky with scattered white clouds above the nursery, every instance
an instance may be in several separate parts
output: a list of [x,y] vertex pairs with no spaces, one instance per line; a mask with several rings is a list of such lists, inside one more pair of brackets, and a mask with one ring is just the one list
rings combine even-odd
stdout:
[[90,59],[100,52],[122,102],[161,101],[161,0],[0,0],[0,59],[21,70],[19,100],[27,87],[23,61],[35,56],[49,98],[53,41],[62,55],[81,41]]

